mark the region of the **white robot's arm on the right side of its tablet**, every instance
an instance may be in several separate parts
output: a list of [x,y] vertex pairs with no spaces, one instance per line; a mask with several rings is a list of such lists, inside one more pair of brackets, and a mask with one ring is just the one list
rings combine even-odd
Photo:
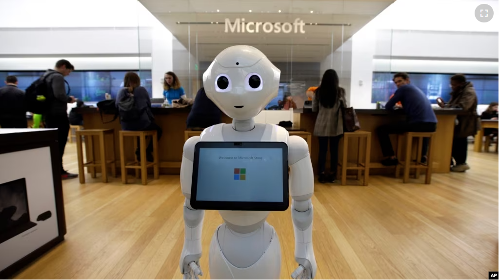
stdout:
[[307,142],[299,136],[288,140],[289,191],[294,228],[294,257],[299,264],[291,275],[294,279],[313,279],[317,263],[312,246],[312,194],[314,177]]

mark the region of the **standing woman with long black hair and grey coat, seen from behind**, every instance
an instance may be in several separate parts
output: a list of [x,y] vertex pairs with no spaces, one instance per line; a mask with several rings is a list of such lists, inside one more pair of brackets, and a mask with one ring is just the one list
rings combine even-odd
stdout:
[[[341,104],[345,104],[345,90],[339,86],[338,74],[328,69],[322,76],[312,98],[312,112],[319,112],[313,134],[319,137],[319,182],[334,183],[338,170],[338,145],[343,137]],[[326,175],[327,144],[329,143],[331,170]]]

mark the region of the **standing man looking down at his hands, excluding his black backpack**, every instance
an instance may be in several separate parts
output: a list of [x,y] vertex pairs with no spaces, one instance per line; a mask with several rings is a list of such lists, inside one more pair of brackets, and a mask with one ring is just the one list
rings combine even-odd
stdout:
[[73,179],[78,177],[78,174],[72,174],[64,170],[62,165],[62,157],[66,147],[67,135],[69,133],[69,118],[67,116],[67,103],[74,103],[74,96],[68,96],[66,92],[64,80],[74,70],[74,66],[65,59],[61,59],[55,63],[55,68],[48,69],[43,77],[49,88],[52,90],[53,99],[49,105],[49,110],[43,115],[45,128],[57,128],[59,155],[61,157],[61,178],[62,180]]

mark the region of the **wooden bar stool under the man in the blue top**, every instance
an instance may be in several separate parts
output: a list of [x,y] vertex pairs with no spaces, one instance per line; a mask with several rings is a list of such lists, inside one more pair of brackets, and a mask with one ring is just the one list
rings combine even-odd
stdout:
[[[428,144],[428,159],[427,159],[427,164],[424,165],[421,163],[421,158],[423,157],[422,155],[422,150],[423,150],[423,137],[428,137],[430,138],[429,144]],[[401,161],[401,156],[402,156],[402,139],[406,139],[405,143],[405,158],[404,161]],[[418,150],[416,152],[416,162],[413,164],[412,160],[412,142],[413,138],[418,138]],[[397,158],[399,159],[400,164],[397,165],[395,168],[395,177],[399,177],[400,169],[404,168],[404,183],[409,182],[409,174],[411,172],[411,168],[416,169],[416,174],[415,178],[419,179],[419,174],[420,174],[420,169],[426,169],[426,178],[425,178],[425,184],[430,184],[432,181],[432,167],[433,167],[433,159],[432,159],[432,149],[434,146],[435,142],[435,132],[406,132],[404,134],[400,134],[398,138],[398,144],[397,144]]]

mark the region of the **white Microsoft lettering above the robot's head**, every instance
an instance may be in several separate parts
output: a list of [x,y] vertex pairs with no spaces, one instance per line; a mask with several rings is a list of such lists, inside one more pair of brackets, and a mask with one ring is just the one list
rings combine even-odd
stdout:
[[[265,33],[305,33],[303,26],[305,22],[303,20],[296,18],[293,23],[290,22],[245,22],[244,18],[236,18],[234,23],[231,23],[229,18],[225,19],[225,32],[229,33],[259,33],[261,31]],[[298,31],[299,30],[299,31]]]

